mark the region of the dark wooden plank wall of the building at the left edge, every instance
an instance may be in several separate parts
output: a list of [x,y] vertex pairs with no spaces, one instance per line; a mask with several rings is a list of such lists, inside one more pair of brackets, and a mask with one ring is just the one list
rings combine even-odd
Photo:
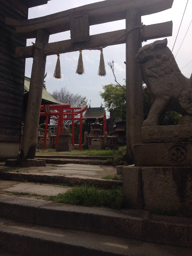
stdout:
[[0,0],[0,142],[20,141],[25,62],[15,57],[15,47],[26,41],[4,23],[4,16],[27,18],[28,8],[19,2]]

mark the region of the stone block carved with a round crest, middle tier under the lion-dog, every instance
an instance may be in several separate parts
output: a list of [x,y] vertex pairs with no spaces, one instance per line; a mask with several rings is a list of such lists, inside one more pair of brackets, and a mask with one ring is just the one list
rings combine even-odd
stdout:
[[192,166],[192,142],[134,145],[135,166]]

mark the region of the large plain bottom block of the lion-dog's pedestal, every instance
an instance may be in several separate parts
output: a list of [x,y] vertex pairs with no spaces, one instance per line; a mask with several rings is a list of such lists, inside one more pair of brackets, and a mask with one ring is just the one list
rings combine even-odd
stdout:
[[192,216],[192,167],[122,168],[127,208]]

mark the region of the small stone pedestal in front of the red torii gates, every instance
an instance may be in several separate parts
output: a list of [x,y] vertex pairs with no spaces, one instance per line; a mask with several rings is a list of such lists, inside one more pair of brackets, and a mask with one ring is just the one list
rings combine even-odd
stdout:
[[58,133],[58,144],[56,145],[56,151],[71,151],[72,146],[72,133],[62,132]]

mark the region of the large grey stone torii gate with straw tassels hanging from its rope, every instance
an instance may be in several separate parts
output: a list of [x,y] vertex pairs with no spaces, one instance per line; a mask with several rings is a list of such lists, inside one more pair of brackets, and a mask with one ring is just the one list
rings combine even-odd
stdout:
[[[6,17],[33,46],[16,47],[18,58],[33,57],[25,129],[20,158],[34,158],[46,55],[126,43],[126,137],[127,161],[133,160],[133,144],[141,142],[142,79],[135,54],[141,47],[141,16],[171,8],[173,0],[105,0],[28,20]],[[89,26],[126,19],[126,29],[89,35]],[[48,43],[49,34],[70,30],[71,39]],[[172,35],[172,21],[142,27],[145,40]]]

